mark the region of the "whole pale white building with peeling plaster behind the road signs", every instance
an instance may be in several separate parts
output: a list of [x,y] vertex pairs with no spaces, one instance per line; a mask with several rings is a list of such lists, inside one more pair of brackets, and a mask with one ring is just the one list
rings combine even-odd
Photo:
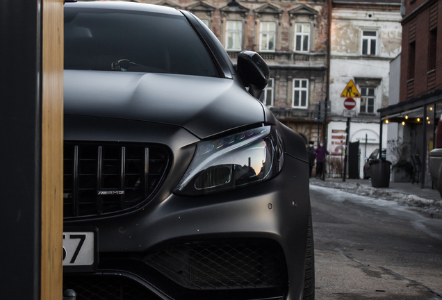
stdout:
[[[354,98],[356,117],[351,118],[349,142],[360,142],[359,176],[363,178],[364,157],[379,147],[377,109],[388,106],[389,64],[401,51],[400,0],[333,1],[331,14],[329,162],[336,165],[345,151],[347,117],[341,93],[352,80],[361,97]],[[384,135],[382,144],[386,142]],[[329,172],[334,175],[333,169]]]

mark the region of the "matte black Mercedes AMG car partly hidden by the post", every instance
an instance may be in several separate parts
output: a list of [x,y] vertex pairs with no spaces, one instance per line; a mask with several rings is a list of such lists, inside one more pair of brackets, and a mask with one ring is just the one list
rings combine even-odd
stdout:
[[64,289],[313,299],[309,160],[257,100],[261,56],[143,3],[66,3],[64,26]]

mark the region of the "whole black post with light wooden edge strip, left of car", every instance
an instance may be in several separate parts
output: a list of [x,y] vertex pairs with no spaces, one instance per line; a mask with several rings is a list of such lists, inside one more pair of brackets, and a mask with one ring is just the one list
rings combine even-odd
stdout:
[[60,300],[63,1],[2,0],[1,299]]

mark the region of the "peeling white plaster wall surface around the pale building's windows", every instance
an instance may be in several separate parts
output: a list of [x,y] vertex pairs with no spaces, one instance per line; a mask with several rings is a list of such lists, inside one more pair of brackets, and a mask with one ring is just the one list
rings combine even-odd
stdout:
[[[350,8],[334,8],[331,19],[331,60],[330,60],[330,101],[331,122],[329,124],[328,145],[330,151],[339,146],[336,131],[345,130],[343,102],[341,97],[345,86],[350,80],[368,78],[368,81],[379,83],[375,94],[375,113],[360,113],[361,99],[356,100],[357,117],[351,118],[350,138],[360,130],[370,130],[379,138],[379,113],[377,109],[388,106],[388,88],[390,61],[401,51],[402,26],[399,10],[358,10]],[[377,31],[377,55],[363,56],[361,50],[362,31]],[[371,79],[371,80],[370,80]],[[360,87],[357,85],[359,92]],[[333,133],[335,131],[335,133]],[[334,138],[333,138],[334,137]],[[369,137],[370,138],[370,137]],[[386,147],[387,126],[383,124],[382,144]],[[363,176],[363,156],[367,156],[379,147],[379,144],[361,142],[361,160],[359,161],[360,176]]]

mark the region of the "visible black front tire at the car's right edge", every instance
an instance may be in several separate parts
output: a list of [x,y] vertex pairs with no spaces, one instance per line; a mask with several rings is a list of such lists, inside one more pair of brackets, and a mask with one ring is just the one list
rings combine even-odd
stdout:
[[303,300],[315,300],[315,251],[313,245],[313,225],[311,222],[311,208],[309,208],[309,227],[307,229],[307,247],[304,267]]

